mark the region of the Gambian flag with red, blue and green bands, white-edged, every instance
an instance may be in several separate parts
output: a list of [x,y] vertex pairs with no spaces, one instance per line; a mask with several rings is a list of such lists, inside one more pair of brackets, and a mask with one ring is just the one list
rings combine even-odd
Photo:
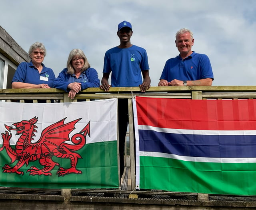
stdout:
[[256,194],[256,100],[136,97],[136,185]]

